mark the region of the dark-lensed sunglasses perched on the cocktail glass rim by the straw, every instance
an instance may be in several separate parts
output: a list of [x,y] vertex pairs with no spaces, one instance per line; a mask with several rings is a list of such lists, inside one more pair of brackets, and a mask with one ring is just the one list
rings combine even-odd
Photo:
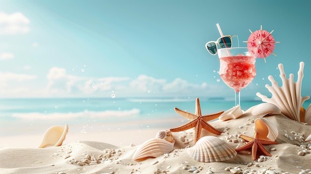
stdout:
[[221,48],[231,48],[232,47],[232,37],[234,37],[234,36],[226,35],[226,36],[220,37],[219,39],[217,39],[217,42],[210,41],[210,42],[206,43],[205,47],[211,55],[216,55],[217,51],[218,51],[217,44]]

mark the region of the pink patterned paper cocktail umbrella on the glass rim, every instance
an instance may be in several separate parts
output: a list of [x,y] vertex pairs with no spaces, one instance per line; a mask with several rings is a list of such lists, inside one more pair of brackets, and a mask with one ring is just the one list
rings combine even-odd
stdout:
[[274,38],[271,35],[274,30],[269,33],[266,30],[262,30],[262,26],[260,26],[260,30],[256,30],[255,32],[252,32],[251,30],[249,31],[251,32],[251,34],[248,37],[248,40],[244,42],[247,42],[247,47],[256,47],[258,49],[256,53],[256,58],[266,58],[271,54],[276,56],[276,54],[273,53],[273,50],[275,47],[275,43],[280,42],[274,41]]

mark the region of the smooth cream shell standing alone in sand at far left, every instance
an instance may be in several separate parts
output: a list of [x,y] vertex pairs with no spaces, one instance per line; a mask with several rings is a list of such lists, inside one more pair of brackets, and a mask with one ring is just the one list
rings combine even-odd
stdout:
[[52,126],[48,128],[38,148],[61,146],[66,138],[68,130],[67,124],[65,126]]

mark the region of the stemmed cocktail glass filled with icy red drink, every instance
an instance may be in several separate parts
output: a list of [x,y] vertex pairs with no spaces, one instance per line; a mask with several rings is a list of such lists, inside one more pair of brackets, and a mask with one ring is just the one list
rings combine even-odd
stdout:
[[240,90],[255,77],[257,48],[224,48],[218,50],[219,75],[235,91],[235,106],[240,105]]

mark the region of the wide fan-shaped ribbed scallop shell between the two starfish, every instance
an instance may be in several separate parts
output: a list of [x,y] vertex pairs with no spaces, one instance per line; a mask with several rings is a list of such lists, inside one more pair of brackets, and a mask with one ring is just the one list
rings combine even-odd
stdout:
[[210,163],[226,161],[236,155],[236,151],[222,139],[204,136],[187,149],[188,155],[196,161]]

